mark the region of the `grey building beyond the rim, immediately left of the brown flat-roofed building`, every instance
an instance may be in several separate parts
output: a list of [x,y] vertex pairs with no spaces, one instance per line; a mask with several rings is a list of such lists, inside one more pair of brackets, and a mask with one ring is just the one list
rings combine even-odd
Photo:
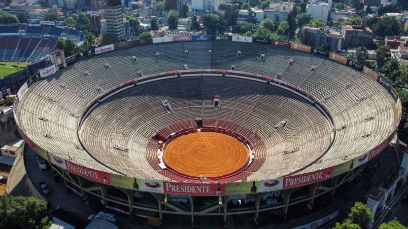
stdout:
[[308,27],[308,43],[312,47],[322,47],[325,44],[330,46],[331,52],[337,52],[342,49],[343,36],[333,28],[315,28]]

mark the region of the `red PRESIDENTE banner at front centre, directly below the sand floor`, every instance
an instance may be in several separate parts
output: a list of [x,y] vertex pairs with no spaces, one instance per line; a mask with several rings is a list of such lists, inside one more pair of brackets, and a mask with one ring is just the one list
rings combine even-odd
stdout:
[[180,183],[180,182],[164,182],[165,194],[178,195],[223,195],[224,184],[220,183]]

